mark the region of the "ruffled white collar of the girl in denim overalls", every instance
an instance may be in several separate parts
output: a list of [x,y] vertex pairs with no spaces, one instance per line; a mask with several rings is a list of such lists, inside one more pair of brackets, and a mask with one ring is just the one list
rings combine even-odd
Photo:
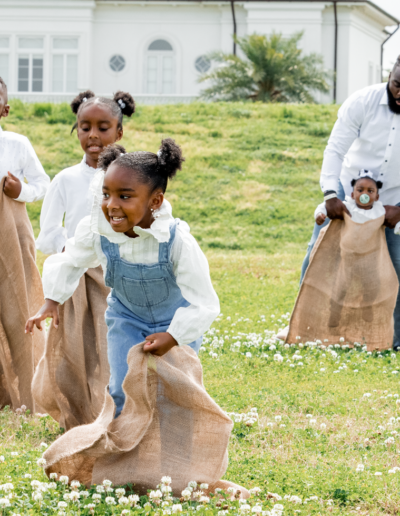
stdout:
[[[110,242],[114,244],[123,244],[127,241],[136,240],[135,238],[129,238],[124,233],[117,233],[112,229],[109,222],[104,217],[103,210],[101,209],[101,201],[103,198],[103,170],[97,170],[91,183],[90,190],[93,193],[93,205],[90,216],[90,228],[93,233],[105,236]],[[138,238],[153,237],[158,242],[168,242],[170,239],[169,227],[174,221],[172,216],[171,204],[164,199],[164,202],[156,212],[154,212],[155,220],[153,224],[143,229],[135,226],[133,230],[138,235]]]

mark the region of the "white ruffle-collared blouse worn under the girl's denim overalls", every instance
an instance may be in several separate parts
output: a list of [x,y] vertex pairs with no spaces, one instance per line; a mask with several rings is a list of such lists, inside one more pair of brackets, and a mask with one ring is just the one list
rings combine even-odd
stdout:
[[[145,264],[157,263],[159,244],[170,239],[170,225],[175,219],[166,199],[155,212],[156,219],[149,229],[134,227],[138,237],[129,238],[124,233],[115,232],[101,210],[102,178],[103,172],[99,171],[92,183],[95,193],[92,214],[79,222],[75,236],[66,242],[65,252],[45,261],[43,288],[46,299],[62,304],[72,296],[88,268],[101,265],[106,272],[107,258],[101,248],[101,235],[118,244],[122,259]],[[183,221],[176,228],[171,262],[182,296],[190,305],[178,308],[167,331],[179,345],[184,345],[208,330],[220,307],[211,283],[207,258]]]

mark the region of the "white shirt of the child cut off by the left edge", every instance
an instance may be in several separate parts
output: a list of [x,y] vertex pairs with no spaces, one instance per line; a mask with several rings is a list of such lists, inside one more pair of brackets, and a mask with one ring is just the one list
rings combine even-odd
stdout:
[[21,181],[22,189],[16,201],[33,202],[43,199],[50,178],[31,142],[26,136],[3,131],[0,127],[0,179],[8,172]]

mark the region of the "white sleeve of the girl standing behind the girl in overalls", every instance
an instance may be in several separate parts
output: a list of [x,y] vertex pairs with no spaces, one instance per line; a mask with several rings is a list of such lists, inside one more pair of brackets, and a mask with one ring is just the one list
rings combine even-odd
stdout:
[[65,200],[59,177],[56,176],[50,183],[40,213],[40,233],[36,248],[44,254],[61,253],[68,240],[67,230],[63,226]]

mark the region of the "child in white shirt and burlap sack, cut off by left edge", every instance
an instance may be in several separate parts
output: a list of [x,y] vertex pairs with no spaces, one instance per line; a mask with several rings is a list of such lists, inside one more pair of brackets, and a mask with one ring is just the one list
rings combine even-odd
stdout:
[[[0,78],[0,118],[9,111]],[[34,410],[31,382],[44,339],[25,335],[23,321],[42,304],[43,290],[24,202],[43,199],[49,183],[29,140],[0,128],[0,408]]]

